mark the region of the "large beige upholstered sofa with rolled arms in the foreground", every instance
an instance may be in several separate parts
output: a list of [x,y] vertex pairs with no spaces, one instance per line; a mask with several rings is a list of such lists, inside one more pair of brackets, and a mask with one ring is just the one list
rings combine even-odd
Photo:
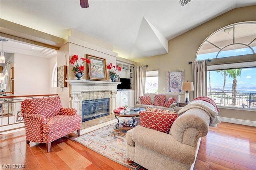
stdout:
[[128,162],[134,161],[148,170],[192,170],[201,137],[208,133],[210,117],[200,108],[178,112],[169,134],[136,126],[126,134]]

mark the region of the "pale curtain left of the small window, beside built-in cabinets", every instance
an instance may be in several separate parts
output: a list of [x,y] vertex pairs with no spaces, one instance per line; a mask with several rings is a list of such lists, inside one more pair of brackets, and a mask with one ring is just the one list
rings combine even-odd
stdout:
[[146,66],[134,66],[134,98],[135,101],[145,93]]

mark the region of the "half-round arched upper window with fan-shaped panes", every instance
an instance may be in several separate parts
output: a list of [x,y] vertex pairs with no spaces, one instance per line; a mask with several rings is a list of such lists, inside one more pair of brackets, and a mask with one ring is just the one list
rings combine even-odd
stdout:
[[198,49],[196,60],[255,54],[256,22],[225,26],[211,34]]

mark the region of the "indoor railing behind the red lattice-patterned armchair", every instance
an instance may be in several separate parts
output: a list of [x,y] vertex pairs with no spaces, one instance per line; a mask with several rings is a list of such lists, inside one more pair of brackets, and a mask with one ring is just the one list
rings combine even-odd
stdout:
[[45,98],[50,96],[58,96],[58,94],[0,96],[0,133],[24,128],[24,121],[20,112],[20,103],[25,99]]

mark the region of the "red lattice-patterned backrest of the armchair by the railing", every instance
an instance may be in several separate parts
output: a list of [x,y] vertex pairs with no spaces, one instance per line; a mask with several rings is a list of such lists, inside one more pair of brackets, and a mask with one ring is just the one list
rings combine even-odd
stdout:
[[60,114],[60,108],[62,108],[60,98],[49,97],[47,98],[33,98],[24,100],[26,113],[40,114],[46,118],[50,116],[56,116]]

